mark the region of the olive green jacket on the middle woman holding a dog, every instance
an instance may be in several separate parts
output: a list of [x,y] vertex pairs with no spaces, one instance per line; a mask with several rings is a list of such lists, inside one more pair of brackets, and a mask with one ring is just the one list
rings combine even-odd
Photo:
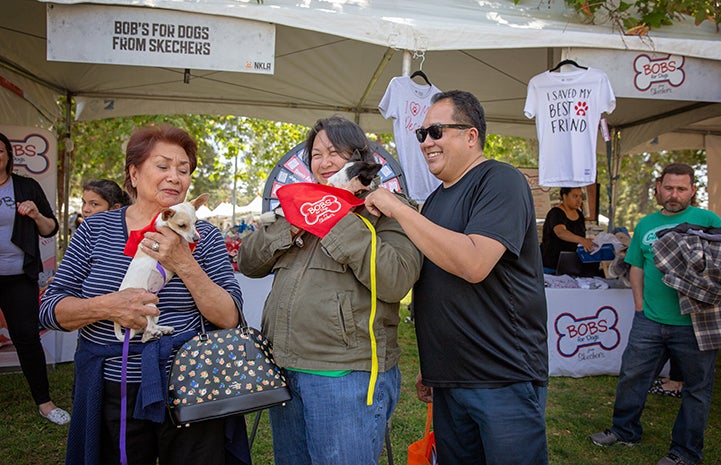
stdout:
[[[373,323],[378,370],[400,357],[398,307],[418,279],[423,256],[397,221],[360,213],[377,234],[377,309]],[[262,331],[281,367],[307,370],[371,369],[370,244],[365,223],[349,213],[323,238],[305,232],[291,239],[285,218],[245,237],[238,267],[251,277],[275,273],[265,302]],[[297,241],[296,241],[297,242]]]

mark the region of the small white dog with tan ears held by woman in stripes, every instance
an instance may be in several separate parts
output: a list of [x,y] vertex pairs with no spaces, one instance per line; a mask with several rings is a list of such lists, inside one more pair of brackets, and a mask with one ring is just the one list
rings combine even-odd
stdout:
[[[208,200],[208,194],[202,194],[197,199],[189,202],[179,203],[160,212],[155,220],[155,228],[165,226],[190,242],[197,242],[200,239],[198,230],[195,229],[195,222],[198,220],[195,211]],[[128,271],[125,272],[120,289],[140,288],[154,294],[160,292],[165,284],[173,278],[172,271],[164,268],[157,260],[146,254],[141,247],[138,247],[133,261],[130,262]],[[148,304],[153,305],[153,304]],[[157,339],[164,334],[171,334],[171,326],[158,325],[158,317],[147,317],[148,325],[143,332],[143,342]],[[130,338],[135,337],[136,331],[130,329]],[[123,341],[123,328],[115,323],[115,337]]]

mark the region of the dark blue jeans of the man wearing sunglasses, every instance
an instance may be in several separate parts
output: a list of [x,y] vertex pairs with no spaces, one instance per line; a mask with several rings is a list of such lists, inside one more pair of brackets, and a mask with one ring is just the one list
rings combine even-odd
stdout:
[[442,465],[547,465],[546,395],[530,382],[495,389],[433,388]]

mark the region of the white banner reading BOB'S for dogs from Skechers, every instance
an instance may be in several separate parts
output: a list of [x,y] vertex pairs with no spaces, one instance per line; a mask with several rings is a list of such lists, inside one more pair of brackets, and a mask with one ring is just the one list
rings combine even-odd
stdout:
[[47,59],[273,74],[275,26],[157,8],[48,5]]

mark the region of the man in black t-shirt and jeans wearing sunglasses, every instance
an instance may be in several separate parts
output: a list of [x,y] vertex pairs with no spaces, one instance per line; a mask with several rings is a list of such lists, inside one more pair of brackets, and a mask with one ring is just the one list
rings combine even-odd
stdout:
[[416,388],[433,402],[438,463],[545,465],[547,309],[528,182],[484,157],[485,115],[468,92],[436,94],[416,135],[442,184],[420,213],[385,189],[366,206],[425,255]]

